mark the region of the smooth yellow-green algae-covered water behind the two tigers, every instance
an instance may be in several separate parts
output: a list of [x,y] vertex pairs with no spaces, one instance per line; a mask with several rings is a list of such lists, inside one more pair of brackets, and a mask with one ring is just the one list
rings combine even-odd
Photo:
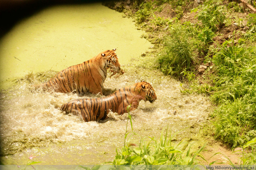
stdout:
[[131,18],[101,4],[48,7],[15,25],[0,40],[0,89],[18,77],[87,61],[117,48],[127,63],[151,44],[140,38]]

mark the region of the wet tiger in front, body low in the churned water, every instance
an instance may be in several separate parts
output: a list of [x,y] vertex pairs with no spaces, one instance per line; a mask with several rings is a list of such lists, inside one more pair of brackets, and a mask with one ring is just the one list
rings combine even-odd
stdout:
[[66,113],[82,114],[85,122],[104,120],[109,111],[120,114],[135,110],[141,100],[153,103],[157,99],[155,90],[150,83],[142,81],[132,86],[119,89],[113,94],[101,98],[75,99],[61,106]]

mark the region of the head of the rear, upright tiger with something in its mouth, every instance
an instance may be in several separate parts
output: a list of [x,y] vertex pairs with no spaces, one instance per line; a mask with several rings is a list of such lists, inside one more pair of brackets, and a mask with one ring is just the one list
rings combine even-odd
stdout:
[[115,52],[116,49],[106,50],[101,53],[102,58],[105,62],[106,69],[110,68],[112,72],[118,72],[120,68],[120,63],[118,62],[118,57]]

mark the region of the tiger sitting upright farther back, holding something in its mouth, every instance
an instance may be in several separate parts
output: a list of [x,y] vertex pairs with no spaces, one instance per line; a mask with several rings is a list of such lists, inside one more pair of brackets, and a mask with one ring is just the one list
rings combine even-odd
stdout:
[[53,89],[62,93],[75,91],[79,94],[90,92],[102,95],[103,82],[109,68],[112,75],[124,74],[115,50],[106,50],[88,61],[63,69],[52,79],[37,87],[42,86],[43,89]]

